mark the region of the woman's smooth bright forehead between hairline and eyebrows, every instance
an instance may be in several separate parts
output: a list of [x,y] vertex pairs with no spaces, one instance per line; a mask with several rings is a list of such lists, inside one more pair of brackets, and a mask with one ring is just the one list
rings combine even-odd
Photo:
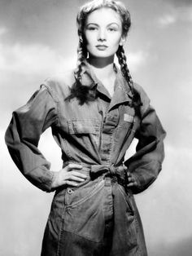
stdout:
[[103,7],[101,9],[91,12],[87,19],[86,24],[96,23],[96,24],[111,24],[117,23],[121,24],[120,15],[111,8]]

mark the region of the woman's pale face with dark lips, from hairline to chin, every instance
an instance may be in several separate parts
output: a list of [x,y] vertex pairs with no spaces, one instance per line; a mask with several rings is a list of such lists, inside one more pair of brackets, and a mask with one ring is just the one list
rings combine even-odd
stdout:
[[91,12],[85,22],[85,38],[89,55],[107,58],[116,54],[122,38],[120,15],[111,8]]

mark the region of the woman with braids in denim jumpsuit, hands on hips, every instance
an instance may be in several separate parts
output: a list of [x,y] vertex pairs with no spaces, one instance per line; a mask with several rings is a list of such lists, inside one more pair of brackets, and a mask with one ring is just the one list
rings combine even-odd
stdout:
[[[165,132],[126,64],[130,24],[120,2],[81,7],[75,72],[46,80],[13,113],[6,133],[11,157],[31,183],[55,190],[41,256],[147,255],[133,193],[159,174]],[[48,127],[62,150],[57,172],[37,149]],[[137,152],[124,161],[133,138]]]

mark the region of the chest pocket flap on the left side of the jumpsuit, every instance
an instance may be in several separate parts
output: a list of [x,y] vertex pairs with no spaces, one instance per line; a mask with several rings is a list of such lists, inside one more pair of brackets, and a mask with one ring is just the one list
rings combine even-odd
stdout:
[[99,135],[100,121],[98,119],[72,119],[68,120],[70,135],[92,134]]

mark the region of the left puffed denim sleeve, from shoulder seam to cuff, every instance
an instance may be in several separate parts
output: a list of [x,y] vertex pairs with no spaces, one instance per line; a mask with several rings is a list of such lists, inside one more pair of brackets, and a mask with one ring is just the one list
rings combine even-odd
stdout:
[[26,179],[46,192],[51,191],[55,174],[37,146],[41,133],[57,121],[55,99],[46,86],[41,86],[27,104],[13,113],[5,135],[15,165]]

